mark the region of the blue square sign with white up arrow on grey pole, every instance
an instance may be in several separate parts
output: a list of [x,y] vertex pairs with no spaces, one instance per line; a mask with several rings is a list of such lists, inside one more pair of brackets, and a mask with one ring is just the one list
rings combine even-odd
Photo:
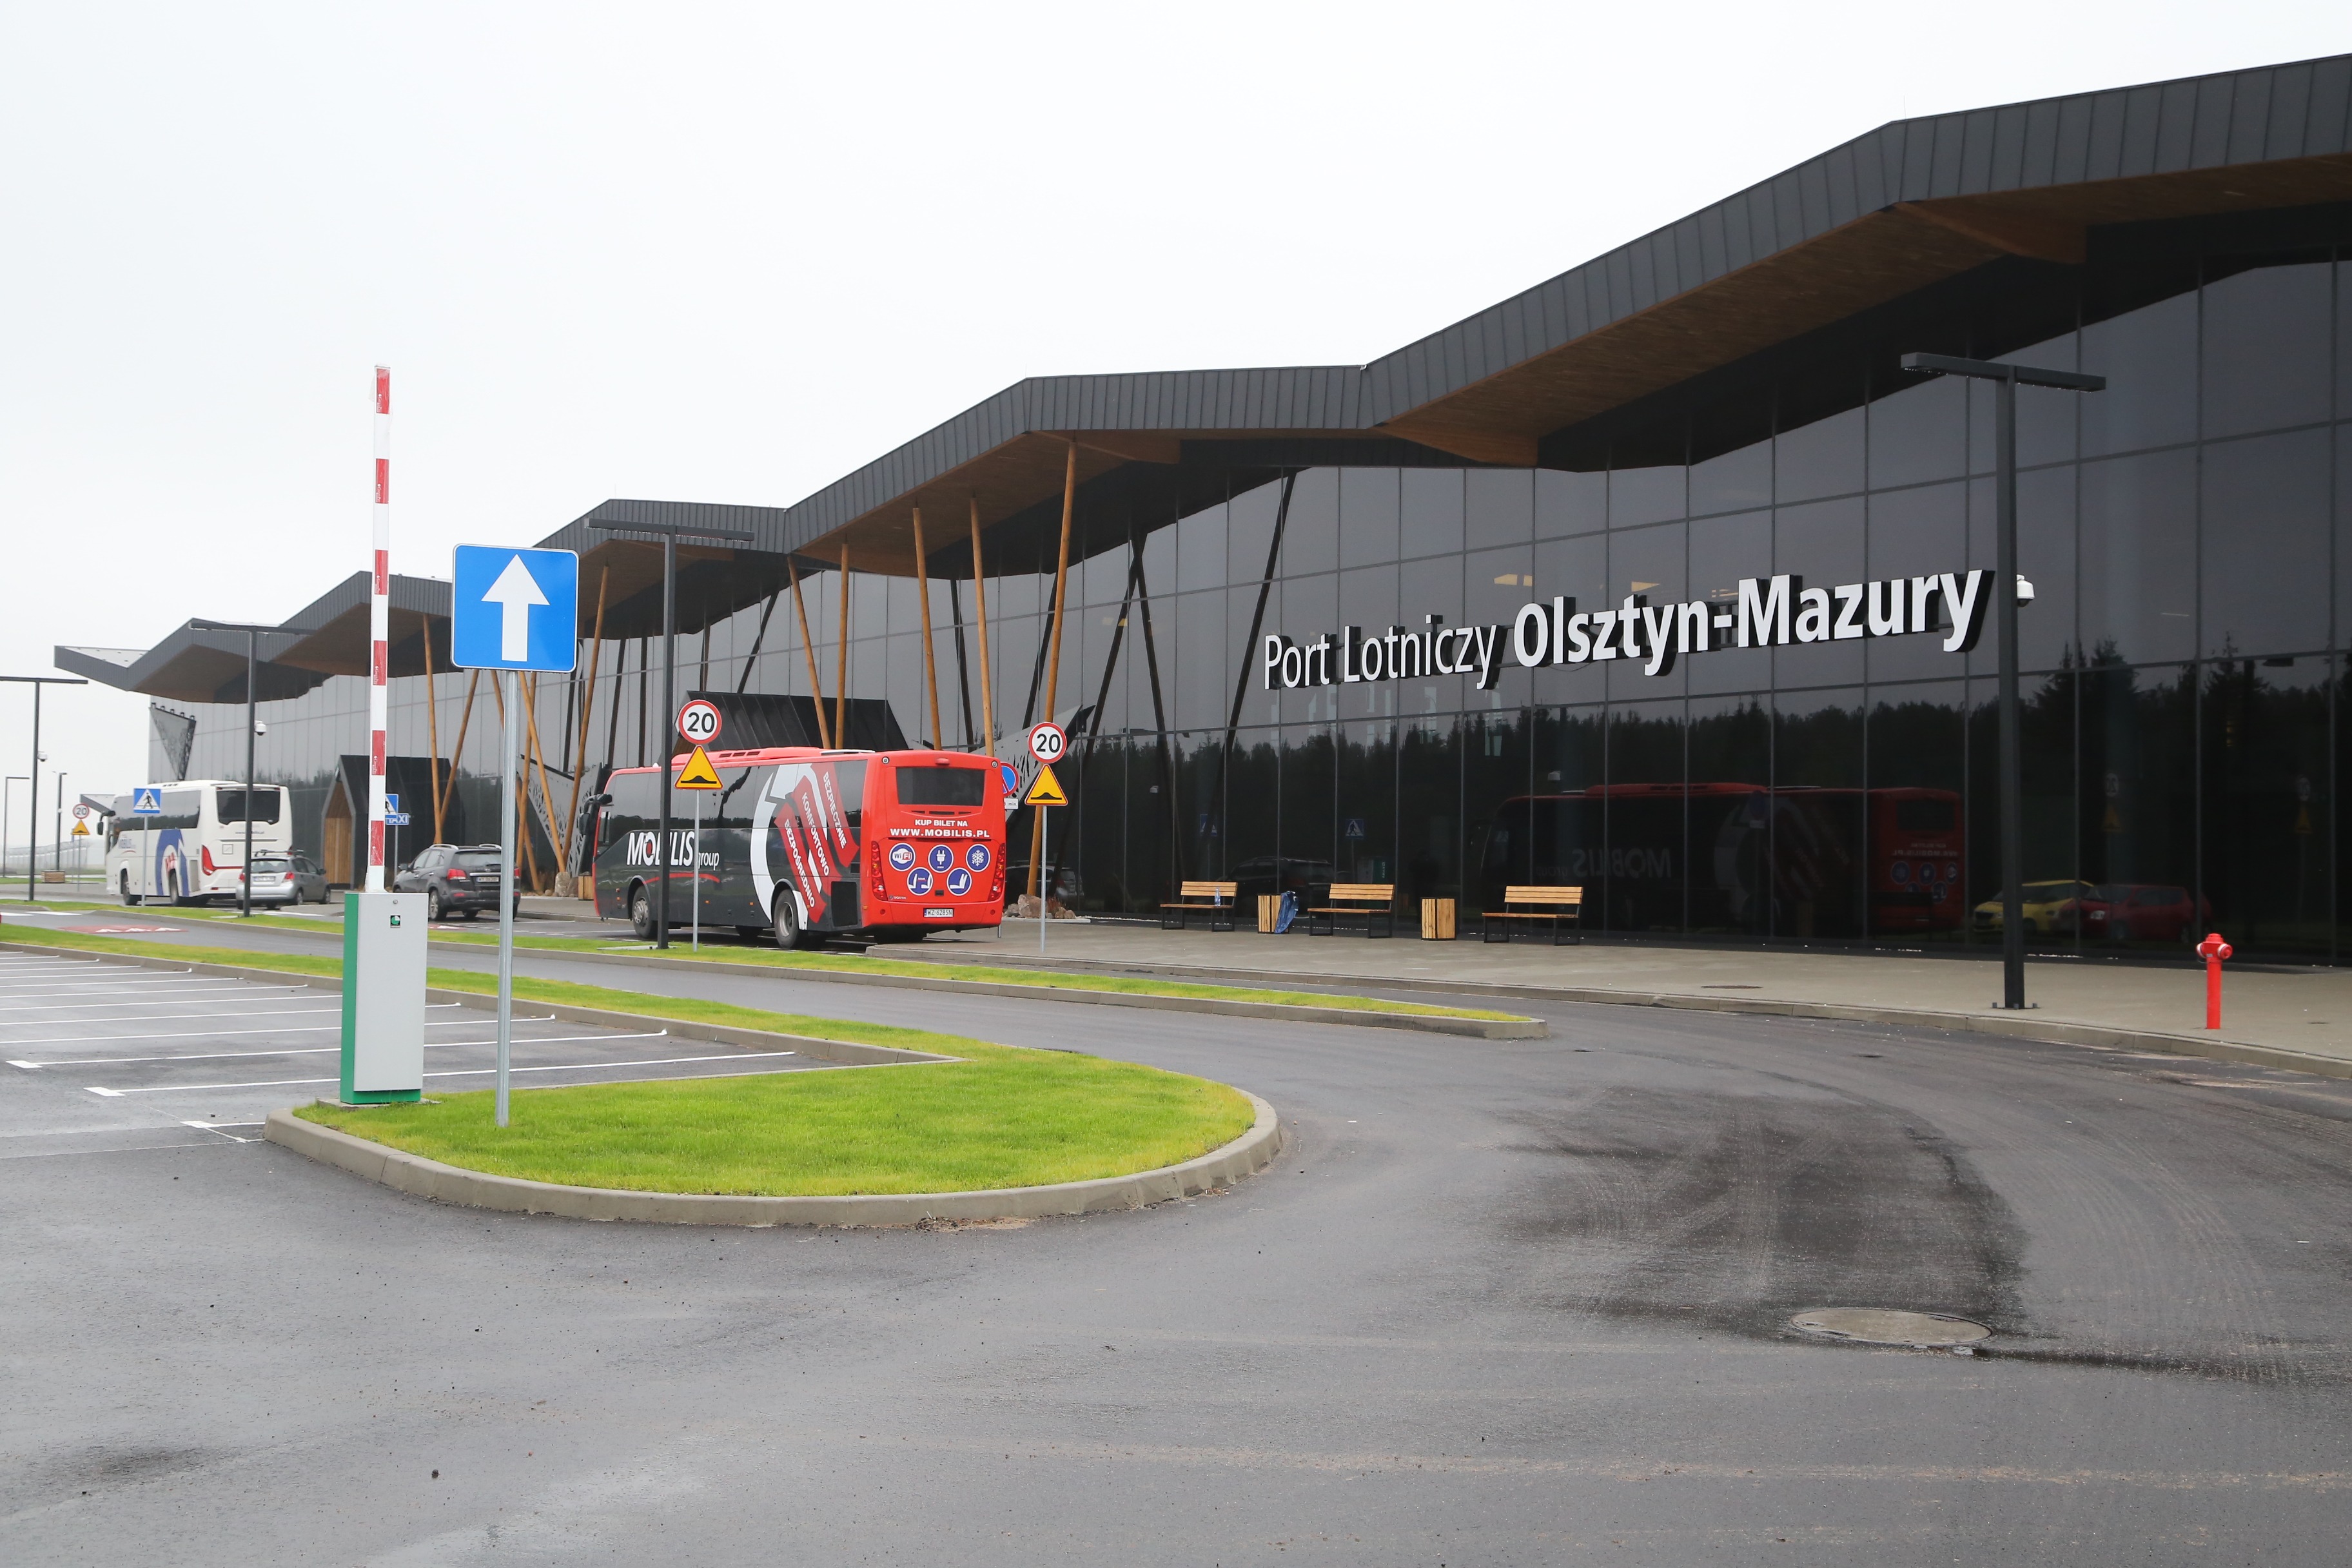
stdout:
[[461,670],[494,670],[506,684],[506,743],[499,750],[499,1126],[506,1126],[506,1081],[515,1041],[515,752],[522,750],[522,682],[515,672],[572,670],[579,663],[579,555],[503,545],[456,548],[449,588],[449,663]]

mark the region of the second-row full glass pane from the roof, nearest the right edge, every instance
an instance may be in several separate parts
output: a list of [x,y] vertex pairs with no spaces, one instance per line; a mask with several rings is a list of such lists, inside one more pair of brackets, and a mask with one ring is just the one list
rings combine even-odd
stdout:
[[2328,435],[2296,430],[2204,449],[2209,656],[2328,646]]

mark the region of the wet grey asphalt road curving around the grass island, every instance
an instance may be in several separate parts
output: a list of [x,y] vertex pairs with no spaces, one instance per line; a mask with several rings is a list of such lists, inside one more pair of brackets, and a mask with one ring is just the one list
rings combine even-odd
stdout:
[[[2352,1086],[532,969],[1202,1072],[1294,1143],[1221,1197],[953,1232],[477,1215],[266,1143],[7,1159],[0,1556],[2343,1561]],[[1997,1333],[1820,1345],[1816,1305]]]

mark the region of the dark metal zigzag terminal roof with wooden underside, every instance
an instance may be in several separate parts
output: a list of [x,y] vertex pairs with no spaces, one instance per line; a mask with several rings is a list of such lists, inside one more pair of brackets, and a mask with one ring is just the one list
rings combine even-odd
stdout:
[[[741,550],[682,550],[694,621],[680,625],[699,630],[774,592],[793,555],[814,569],[816,552],[837,562],[847,548],[858,569],[913,569],[915,508],[936,517],[927,545],[943,562],[957,548],[969,562],[957,538],[971,505],[988,529],[1035,534],[1058,515],[1073,449],[1080,505],[1181,498],[1185,473],[1256,468],[1282,449],[1536,463],[1557,430],[1945,277],[2018,256],[2082,261],[2089,228],[2331,200],[2352,200],[2352,54],[1898,120],[1362,367],[1028,378],[795,505],[607,501],[546,543],[593,562],[583,599],[604,581],[607,635],[626,637],[659,623],[644,545],[590,520],[750,531]],[[355,583],[365,614],[355,576],[301,623],[325,635],[348,621]],[[435,588],[419,618],[447,616]],[[583,604],[583,632],[588,618]],[[106,665],[78,658],[66,668]]]

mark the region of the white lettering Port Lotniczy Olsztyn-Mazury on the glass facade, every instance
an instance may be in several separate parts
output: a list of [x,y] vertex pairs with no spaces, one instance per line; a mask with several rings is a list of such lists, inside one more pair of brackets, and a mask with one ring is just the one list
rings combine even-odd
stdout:
[[[1628,658],[1644,675],[1665,675],[1684,654],[1910,635],[1940,635],[1945,654],[1962,654],[1985,628],[1990,581],[1978,569],[1806,588],[1783,571],[1740,578],[1729,599],[1651,604],[1646,595],[1628,595],[1616,609],[1576,609],[1576,599],[1555,597],[1522,604],[1510,625],[1444,625],[1442,616],[1425,616],[1418,632],[1392,625],[1367,635],[1343,625],[1305,644],[1268,632],[1258,644],[1258,679],[1268,691],[1291,691],[1470,675],[1479,691],[1491,691],[1505,658],[1529,670]],[[2030,597],[2032,588],[2018,578],[2018,602]]]

